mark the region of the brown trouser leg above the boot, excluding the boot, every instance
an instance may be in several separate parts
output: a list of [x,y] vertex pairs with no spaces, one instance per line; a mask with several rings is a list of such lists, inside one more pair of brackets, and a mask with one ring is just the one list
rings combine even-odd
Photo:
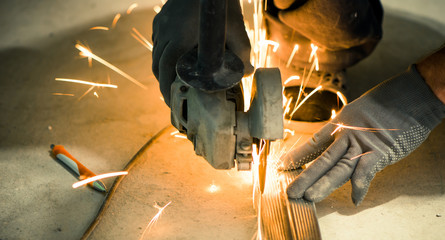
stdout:
[[[294,67],[308,67],[311,43],[318,46],[320,69],[337,72],[374,50],[382,37],[379,0],[269,0],[266,29],[280,43],[277,55],[287,63],[295,44]],[[280,9],[281,8],[281,9]]]

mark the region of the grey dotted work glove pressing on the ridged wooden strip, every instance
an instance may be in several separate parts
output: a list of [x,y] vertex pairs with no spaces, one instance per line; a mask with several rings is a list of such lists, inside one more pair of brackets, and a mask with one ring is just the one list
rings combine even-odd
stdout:
[[351,180],[352,201],[358,205],[375,174],[416,149],[443,118],[445,104],[413,65],[346,105],[311,140],[284,157],[283,169],[315,159],[287,194],[318,202]]

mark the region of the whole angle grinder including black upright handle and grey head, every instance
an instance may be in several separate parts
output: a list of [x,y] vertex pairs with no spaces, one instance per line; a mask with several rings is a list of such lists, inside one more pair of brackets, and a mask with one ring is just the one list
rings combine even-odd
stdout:
[[214,168],[249,170],[253,142],[283,137],[281,76],[278,68],[257,69],[243,111],[244,65],[226,49],[226,11],[226,0],[200,0],[198,46],[176,64],[171,121]]

